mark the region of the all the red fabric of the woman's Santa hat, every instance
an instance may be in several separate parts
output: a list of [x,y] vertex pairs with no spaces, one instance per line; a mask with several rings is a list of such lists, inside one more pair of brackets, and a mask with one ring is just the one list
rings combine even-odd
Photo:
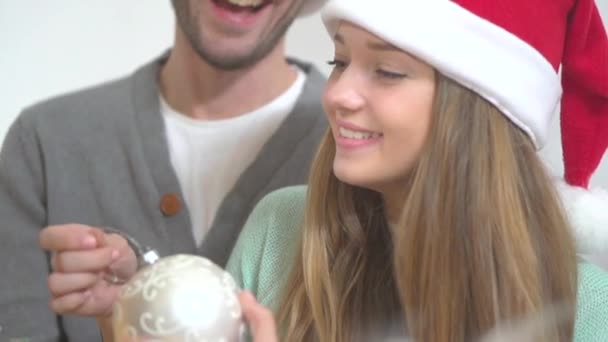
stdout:
[[608,38],[593,0],[453,0],[562,66],[564,177],[587,188],[608,147]]

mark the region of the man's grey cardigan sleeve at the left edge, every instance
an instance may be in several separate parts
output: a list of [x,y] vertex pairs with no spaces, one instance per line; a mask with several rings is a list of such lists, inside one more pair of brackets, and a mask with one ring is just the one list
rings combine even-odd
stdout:
[[38,246],[46,224],[41,146],[32,121],[20,116],[0,152],[0,340],[58,341],[49,308],[48,262]]

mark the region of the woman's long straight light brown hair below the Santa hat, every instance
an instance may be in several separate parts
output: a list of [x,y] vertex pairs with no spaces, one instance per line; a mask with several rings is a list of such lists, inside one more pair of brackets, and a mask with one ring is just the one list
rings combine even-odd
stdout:
[[279,308],[282,340],[377,341],[401,327],[416,341],[471,341],[552,308],[559,319],[534,340],[571,340],[575,246],[529,137],[439,74],[432,121],[392,227],[380,194],[335,177],[325,136]]

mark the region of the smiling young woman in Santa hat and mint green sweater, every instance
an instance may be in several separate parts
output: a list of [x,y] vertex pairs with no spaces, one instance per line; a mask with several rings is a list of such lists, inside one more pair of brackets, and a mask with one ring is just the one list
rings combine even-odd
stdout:
[[[228,265],[279,340],[608,340],[608,275],[577,259],[575,216],[536,154],[560,64],[566,180],[586,187],[608,145],[593,1],[333,0],[324,22],[331,130],[308,187],[267,196]],[[56,311],[111,307],[104,287],[62,279]],[[257,341],[275,338],[268,312],[242,304]]]

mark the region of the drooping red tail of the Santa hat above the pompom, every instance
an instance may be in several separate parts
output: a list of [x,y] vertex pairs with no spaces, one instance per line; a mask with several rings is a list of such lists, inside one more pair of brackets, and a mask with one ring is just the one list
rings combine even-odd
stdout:
[[587,188],[608,148],[608,38],[593,0],[573,7],[562,61],[565,178]]

